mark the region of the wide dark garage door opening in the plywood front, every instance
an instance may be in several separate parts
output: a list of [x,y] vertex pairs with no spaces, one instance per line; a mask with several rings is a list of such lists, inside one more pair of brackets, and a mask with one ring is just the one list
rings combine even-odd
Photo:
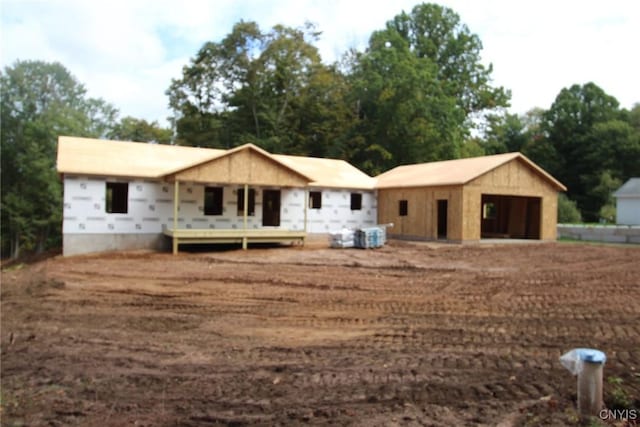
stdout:
[[540,239],[540,197],[482,195],[483,239]]

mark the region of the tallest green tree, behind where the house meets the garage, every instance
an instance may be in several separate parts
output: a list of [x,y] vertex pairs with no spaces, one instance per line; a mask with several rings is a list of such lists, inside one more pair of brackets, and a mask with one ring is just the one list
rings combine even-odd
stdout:
[[418,5],[374,32],[350,75],[366,141],[355,163],[375,173],[477,152],[464,147],[473,117],[509,98],[490,85],[481,49],[455,12],[435,4]]

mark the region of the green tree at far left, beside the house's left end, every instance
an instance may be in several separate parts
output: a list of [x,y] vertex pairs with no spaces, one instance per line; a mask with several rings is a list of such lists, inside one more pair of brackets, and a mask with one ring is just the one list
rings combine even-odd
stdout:
[[59,63],[17,61],[0,73],[2,253],[42,251],[59,239],[59,135],[106,135],[117,111]]

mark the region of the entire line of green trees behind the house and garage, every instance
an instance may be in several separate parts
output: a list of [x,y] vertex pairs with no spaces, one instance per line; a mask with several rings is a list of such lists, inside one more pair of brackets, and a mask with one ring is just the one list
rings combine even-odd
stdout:
[[60,244],[55,156],[62,134],[212,148],[251,142],[274,153],[344,159],[372,175],[521,151],[567,185],[563,201],[577,206],[569,209],[574,220],[585,221],[611,219],[611,191],[640,176],[640,104],[625,110],[586,83],[563,89],[548,110],[509,114],[510,92],[492,84],[480,38],[449,8],[402,12],[373,32],[364,51],[332,64],[315,46],[320,37],[309,23],[264,30],[238,22],[170,82],[170,128],[118,118],[62,64],[6,67],[3,256]]

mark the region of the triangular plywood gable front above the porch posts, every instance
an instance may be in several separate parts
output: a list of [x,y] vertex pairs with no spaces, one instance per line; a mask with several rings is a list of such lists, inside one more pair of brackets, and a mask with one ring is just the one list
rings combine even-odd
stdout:
[[249,184],[277,187],[305,187],[309,180],[292,169],[255,150],[240,150],[180,171],[170,180]]

